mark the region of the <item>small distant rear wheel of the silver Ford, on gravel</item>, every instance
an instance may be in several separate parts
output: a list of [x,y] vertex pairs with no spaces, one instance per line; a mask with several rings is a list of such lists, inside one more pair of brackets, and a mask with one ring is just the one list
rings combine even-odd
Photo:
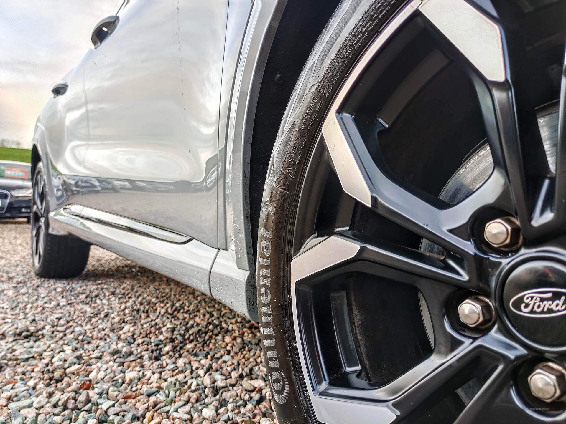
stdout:
[[91,246],[71,236],[50,234],[49,201],[43,163],[33,174],[32,198],[32,257],[33,269],[40,277],[71,278],[87,266]]

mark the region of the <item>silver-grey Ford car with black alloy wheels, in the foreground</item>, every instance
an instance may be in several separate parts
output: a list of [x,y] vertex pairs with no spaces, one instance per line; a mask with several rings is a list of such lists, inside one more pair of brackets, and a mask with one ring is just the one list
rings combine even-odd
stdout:
[[35,271],[258,321],[280,423],[563,423],[565,16],[126,0],[37,120]]

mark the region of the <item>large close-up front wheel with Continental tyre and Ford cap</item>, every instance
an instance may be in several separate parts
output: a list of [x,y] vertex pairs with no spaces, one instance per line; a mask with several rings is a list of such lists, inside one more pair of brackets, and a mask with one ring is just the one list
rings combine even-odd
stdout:
[[566,422],[564,18],[554,0],[338,7],[259,223],[281,423]]

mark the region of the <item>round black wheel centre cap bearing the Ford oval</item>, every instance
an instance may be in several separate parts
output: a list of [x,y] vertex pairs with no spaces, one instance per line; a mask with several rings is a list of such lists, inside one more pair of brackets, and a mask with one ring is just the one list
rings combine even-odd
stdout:
[[514,329],[548,347],[566,347],[566,266],[550,260],[524,263],[509,274],[503,305]]

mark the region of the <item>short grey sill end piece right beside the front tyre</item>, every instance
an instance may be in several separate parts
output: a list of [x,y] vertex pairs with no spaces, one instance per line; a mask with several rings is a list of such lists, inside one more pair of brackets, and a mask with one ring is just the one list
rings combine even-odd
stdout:
[[239,269],[228,250],[220,250],[212,265],[211,294],[237,313],[258,321],[254,273]]

